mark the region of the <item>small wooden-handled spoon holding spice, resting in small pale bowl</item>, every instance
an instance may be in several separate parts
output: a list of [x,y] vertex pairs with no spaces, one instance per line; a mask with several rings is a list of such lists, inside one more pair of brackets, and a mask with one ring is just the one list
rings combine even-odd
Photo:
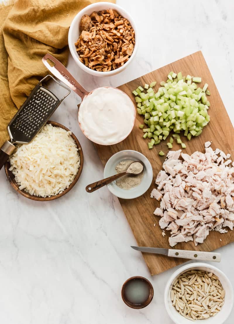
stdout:
[[129,167],[127,168],[126,171],[124,172],[121,172],[121,173],[117,173],[111,177],[108,177],[106,179],[102,179],[102,180],[99,180],[99,181],[96,181],[94,183],[91,183],[89,185],[87,185],[87,187],[85,188],[85,190],[87,192],[93,192],[93,191],[96,191],[104,186],[106,186],[108,183],[112,182],[112,181],[115,181],[123,176],[138,176],[139,174],[142,173],[144,167],[143,167],[143,164],[139,161],[134,161],[132,162]]

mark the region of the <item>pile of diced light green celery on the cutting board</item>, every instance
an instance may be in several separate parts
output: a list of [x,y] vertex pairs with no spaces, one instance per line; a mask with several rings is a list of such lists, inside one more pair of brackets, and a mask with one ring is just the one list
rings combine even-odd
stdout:
[[150,149],[165,140],[172,130],[174,134],[167,143],[168,148],[172,148],[173,138],[185,148],[186,145],[178,134],[184,132],[190,141],[192,136],[200,135],[203,127],[210,121],[207,113],[210,106],[206,98],[206,95],[210,95],[207,83],[203,88],[197,87],[196,83],[202,81],[200,77],[185,77],[181,72],[170,72],[167,77],[167,82],[162,81],[156,93],[152,88],[156,82],[145,84],[145,90],[139,86],[132,92],[135,95],[137,112],[144,116],[144,123],[147,125],[141,124],[139,128],[144,132],[143,138],[150,139]]

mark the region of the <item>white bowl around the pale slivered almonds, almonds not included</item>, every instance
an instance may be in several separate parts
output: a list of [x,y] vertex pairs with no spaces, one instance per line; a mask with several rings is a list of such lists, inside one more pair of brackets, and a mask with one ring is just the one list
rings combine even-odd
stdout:
[[224,274],[221,270],[214,267],[213,265],[210,265],[208,263],[201,263],[201,262],[189,263],[184,265],[183,267],[176,270],[168,280],[164,292],[164,303],[170,318],[176,324],[191,324],[191,321],[189,319],[184,318],[182,315],[178,313],[178,311],[172,305],[172,301],[171,301],[171,290],[172,290],[173,281],[180,274],[187,272],[188,270],[203,270],[203,271],[213,272],[218,277],[220,283],[223,286],[223,289],[225,289],[226,291],[224,305],[222,306],[221,310],[217,313],[217,315],[206,319],[200,319],[197,322],[199,322],[199,324],[224,323],[228,318],[228,316],[230,315],[233,307],[234,295],[233,295],[232,284],[230,283],[226,274]]

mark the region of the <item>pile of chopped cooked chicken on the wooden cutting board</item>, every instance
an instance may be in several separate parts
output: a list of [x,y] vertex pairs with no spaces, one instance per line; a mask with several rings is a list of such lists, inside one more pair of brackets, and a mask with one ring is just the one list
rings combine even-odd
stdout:
[[154,214],[161,216],[160,227],[171,231],[172,247],[188,241],[196,246],[209,231],[233,229],[234,162],[210,144],[205,143],[205,153],[169,151],[155,181],[150,196],[161,202]]

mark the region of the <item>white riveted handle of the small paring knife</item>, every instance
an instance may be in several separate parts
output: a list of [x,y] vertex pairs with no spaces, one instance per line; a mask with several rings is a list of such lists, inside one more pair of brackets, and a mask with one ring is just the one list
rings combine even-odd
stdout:
[[174,258],[184,258],[184,259],[192,259],[192,260],[204,260],[204,261],[214,261],[214,262],[221,261],[221,254],[214,253],[214,252],[168,249],[168,256]]

